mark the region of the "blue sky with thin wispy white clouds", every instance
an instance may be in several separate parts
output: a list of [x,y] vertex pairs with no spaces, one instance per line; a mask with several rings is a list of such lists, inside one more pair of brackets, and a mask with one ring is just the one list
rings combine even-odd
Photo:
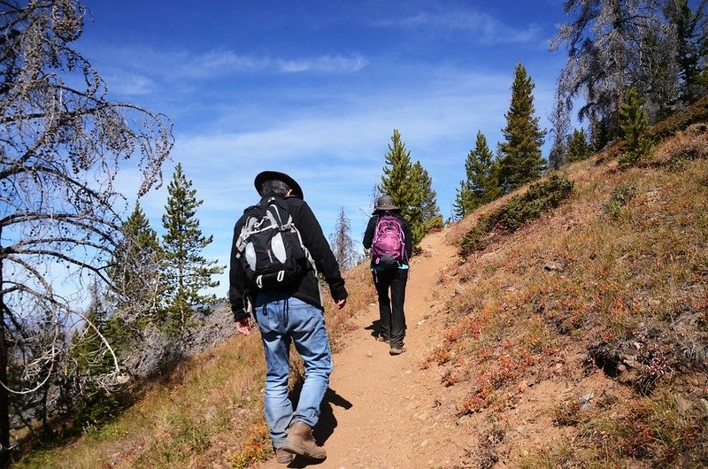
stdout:
[[[467,152],[481,130],[501,139],[519,60],[535,81],[543,127],[565,50],[561,0],[85,0],[74,44],[113,100],[173,119],[165,185],[142,199],[161,231],[166,182],[180,162],[204,204],[207,258],[227,265],[235,219],[258,200],[263,170],[289,173],[325,235],[344,209],[360,242],[396,128],[433,179],[450,217]],[[544,145],[547,157],[550,142]],[[135,170],[121,174],[134,192]],[[226,294],[226,273],[219,278]]]

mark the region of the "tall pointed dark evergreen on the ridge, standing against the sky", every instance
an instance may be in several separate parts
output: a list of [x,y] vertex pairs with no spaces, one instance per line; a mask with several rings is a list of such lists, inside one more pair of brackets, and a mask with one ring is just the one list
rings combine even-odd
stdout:
[[506,140],[499,143],[499,169],[505,192],[538,179],[545,169],[541,146],[546,132],[534,117],[534,88],[526,67],[519,62],[512,84],[512,104],[505,114],[506,127],[502,129]]

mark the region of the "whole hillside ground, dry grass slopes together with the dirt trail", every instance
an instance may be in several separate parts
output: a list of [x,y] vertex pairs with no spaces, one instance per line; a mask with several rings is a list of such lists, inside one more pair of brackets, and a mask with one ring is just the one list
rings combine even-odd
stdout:
[[[466,258],[458,242],[514,194],[428,235],[401,356],[374,341],[366,265],[347,273],[348,306],[327,304],[318,467],[708,465],[708,134],[628,169],[611,154],[564,168],[565,203]],[[116,422],[18,466],[282,467],[262,362],[258,334],[236,336]]]

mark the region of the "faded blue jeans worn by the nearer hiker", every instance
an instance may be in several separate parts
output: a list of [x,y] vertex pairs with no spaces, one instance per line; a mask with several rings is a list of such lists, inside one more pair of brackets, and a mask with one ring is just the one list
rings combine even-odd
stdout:
[[[290,423],[302,421],[314,427],[319,404],[325,396],[332,373],[332,352],[319,308],[293,296],[258,293],[256,319],[266,352],[266,422],[273,447],[281,448]],[[304,384],[293,412],[288,396],[290,343],[304,361]]]

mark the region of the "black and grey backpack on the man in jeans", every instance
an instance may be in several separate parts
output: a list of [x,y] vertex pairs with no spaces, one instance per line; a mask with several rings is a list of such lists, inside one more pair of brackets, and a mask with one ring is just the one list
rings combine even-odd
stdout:
[[258,289],[273,290],[300,281],[314,262],[281,197],[262,199],[243,211],[236,258]]

